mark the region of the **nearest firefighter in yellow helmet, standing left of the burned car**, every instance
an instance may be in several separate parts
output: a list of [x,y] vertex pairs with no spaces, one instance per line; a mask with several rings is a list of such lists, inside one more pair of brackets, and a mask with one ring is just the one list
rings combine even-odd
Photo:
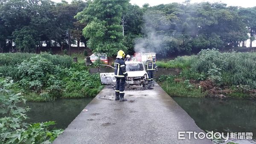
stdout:
[[116,60],[115,60],[115,78],[116,78],[116,98],[115,100],[119,101],[127,101],[125,96],[125,80],[127,78],[127,72],[125,70],[125,52],[119,50],[117,52]]

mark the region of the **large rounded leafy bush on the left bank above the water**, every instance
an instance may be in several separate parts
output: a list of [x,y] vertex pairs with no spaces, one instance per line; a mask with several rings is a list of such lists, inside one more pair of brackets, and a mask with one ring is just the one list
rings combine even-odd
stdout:
[[24,60],[17,68],[21,74],[20,85],[25,89],[36,92],[42,89],[47,89],[49,92],[61,90],[61,81],[57,75],[61,69],[46,58],[37,55],[28,61]]

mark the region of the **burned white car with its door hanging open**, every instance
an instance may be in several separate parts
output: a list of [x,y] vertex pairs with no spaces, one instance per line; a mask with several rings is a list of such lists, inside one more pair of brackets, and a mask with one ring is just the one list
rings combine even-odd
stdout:
[[[146,85],[148,84],[148,74],[145,70],[144,64],[140,61],[126,61],[125,65],[126,71],[128,73],[126,86],[128,88],[146,87]],[[100,79],[102,84],[116,84],[114,72],[101,72]]]

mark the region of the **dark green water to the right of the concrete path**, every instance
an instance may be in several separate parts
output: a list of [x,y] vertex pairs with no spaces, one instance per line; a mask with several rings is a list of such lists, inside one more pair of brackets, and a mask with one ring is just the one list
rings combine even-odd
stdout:
[[253,140],[234,141],[256,144],[256,100],[172,97],[202,130],[253,132]]

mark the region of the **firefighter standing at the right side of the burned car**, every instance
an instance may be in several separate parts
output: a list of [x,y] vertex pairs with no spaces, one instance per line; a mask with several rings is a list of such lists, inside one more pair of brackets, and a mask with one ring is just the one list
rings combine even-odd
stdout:
[[148,72],[148,84],[151,86],[154,86],[154,84],[152,84],[153,78],[154,78],[153,75],[155,70],[158,72],[158,69],[157,69],[156,62],[152,58],[152,55],[148,55],[148,60],[146,61],[146,69]]

